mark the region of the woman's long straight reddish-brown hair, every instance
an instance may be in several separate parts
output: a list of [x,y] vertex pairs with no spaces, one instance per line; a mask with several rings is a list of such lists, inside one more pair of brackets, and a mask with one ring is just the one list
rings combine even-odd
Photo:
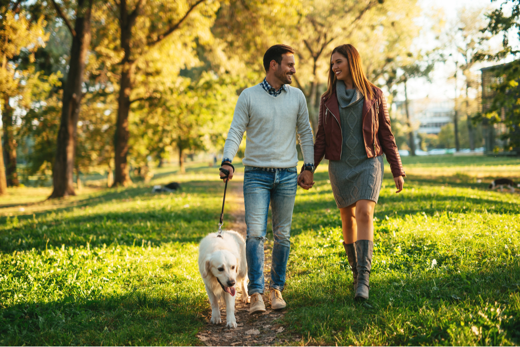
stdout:
[[329,82],[327,83],[327,91],[324,92],[323,96],[328,99],[336,91],[337,78],[334,71],[332,71],[332,55],[334,53],[339,53],[347,59],[348,68],[350,69],[352,80],[354,81],[354,87],[361,92],[365,99],[372,99],[374,97],[374,91],[372,88],[375,86],[368,81],[367,75],[365,75],[365,71],[363,71],[359,52],[350,44],[337,46],[332,50],[330,55],[331,63],[329,66]]

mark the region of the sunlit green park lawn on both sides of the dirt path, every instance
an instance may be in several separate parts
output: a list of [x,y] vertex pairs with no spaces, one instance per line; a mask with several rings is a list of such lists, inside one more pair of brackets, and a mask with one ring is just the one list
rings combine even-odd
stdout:
[[[486,191],[492,175],[482,174],[518,175],[520,162],[403,161],[406,190],[395,194],[385,174],[376,206],[366,303],[353,301],[326,165],[315,188],[298,190],[283,344],[520,344],[520,198]],[[20,211],[0,202],[0,344],[199,344],[210,308],[197,244],[216,229],[222,206],[214,171],[164,169],[149,185],[59,205],[10,190],[27,203]],[[170,180],[183,191],[150,193]]]

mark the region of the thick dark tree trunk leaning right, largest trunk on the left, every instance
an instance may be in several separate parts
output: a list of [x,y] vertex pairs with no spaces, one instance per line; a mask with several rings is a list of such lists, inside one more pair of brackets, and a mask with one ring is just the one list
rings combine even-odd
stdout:
[[56,159],[53,167],[54,191],[50,198],[76,195],[74,192],[74,157],[76,128],[83,97],[83,74],[90,46],[90,13],[93,0],[79,0],[76,11],[75,35],[72,37],[69,74],[63,88],[63,108],[58,132]]

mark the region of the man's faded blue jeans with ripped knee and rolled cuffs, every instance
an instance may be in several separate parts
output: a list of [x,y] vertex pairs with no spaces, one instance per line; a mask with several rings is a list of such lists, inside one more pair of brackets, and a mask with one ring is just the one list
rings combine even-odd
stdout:
[[264,242],[267,234],[267,212],[272,211],[272,248],[270,288],[283,290],[285,269],[291,249],[291,222],[296,196],[296,167],[274,172],[246,166],[244,170],[245,223],[248,234],[245,255],[248,261],[248,291],[264,292]]

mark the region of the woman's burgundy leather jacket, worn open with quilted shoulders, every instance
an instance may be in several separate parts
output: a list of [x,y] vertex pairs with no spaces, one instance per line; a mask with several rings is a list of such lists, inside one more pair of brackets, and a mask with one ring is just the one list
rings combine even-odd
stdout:
[[[363,139],[367,156],[386,154],[386,160],[390,164],[390,170],[394,177],[406,176],[402,168],[401,157],[397,151],[395,138],[390,126],[390,116],[386,107],[383,91],[377,87],[373,89],[375,97],[363,100],[362,122]],[[340,106],[337,95],[326,99],[321,97],[320,112],[318,118],[318,131],[314,142],[314,166],[317,167],[323,158],[340,160],[343,149],[343,133],[341,131]]]

